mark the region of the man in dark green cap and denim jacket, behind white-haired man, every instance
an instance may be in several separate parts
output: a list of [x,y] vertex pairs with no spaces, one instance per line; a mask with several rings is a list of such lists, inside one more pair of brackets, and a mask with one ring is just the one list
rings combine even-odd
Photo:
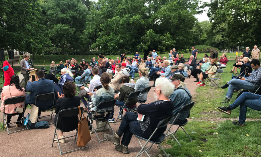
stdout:
[[[174,110],[173,114],[178,114],[180,108],[183,105],[191,103],[191,94],[185,87],[185,77],[182,74],[174,74],[170,78],[172,84],[175,86],[173,93],[170,95],[170,99],[173,101]],[[189,117],[189,111],[181,113],[176,119],[175,123],[182,124],[186,118]],[[175,117],[174,117],[175,118]],[[174,118],[172,120],[174,120]]]

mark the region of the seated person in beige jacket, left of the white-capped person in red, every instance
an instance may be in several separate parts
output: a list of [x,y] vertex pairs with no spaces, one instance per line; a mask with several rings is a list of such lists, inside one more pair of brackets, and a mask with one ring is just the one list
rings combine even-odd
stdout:
[[120,63],[117,63],[115,65],[115,70],[117,71],[117,73],[112,77],[112,81],[109,84],[109,86],[112,87],[114,90],[115,89],[120,89],[122,84],[121,83],[119,84],[119,82],[122,79],[122,76],[124,76],[124,74],[123,74],[123,72],[121,70],[121,64]]

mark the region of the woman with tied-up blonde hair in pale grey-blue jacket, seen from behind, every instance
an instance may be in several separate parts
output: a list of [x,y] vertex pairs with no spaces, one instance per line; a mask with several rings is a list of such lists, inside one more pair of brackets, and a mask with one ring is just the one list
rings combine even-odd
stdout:
[[[149,78],[147,78],[148,68],[140,67],[139,68],[139,76],[140,79],[137,80],[136,85],[134,87],[135,91],[143,90],[146,87],[149,87]],[[131,81],[134,83],[134,81]],[[139,101],[144,102],[147,100],[147,93],[141,94],[139,97]]]

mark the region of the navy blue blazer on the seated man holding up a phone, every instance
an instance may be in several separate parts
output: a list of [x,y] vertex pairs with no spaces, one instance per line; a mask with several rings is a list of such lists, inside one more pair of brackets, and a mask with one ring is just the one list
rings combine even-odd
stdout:
[[[46,80],[45,78],[40,78],[38,81],[34,82],[29,81],[26,86],[26,90],[31,93],[26,97],[25,103],[35,105],[35,97],[38,94],[54,92],[53,81]],[[47,109],[52,106],[52,101],[53,99],[39,101],[36,106],[39,107],[39,109]]]

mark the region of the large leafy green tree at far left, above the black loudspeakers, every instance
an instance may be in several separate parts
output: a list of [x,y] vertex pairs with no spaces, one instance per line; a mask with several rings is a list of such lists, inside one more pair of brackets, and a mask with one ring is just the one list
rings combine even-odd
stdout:
[[49,45],[41,24],[40,6],[34,0],[3,1],[0,11],[0,47],[33,53]]

